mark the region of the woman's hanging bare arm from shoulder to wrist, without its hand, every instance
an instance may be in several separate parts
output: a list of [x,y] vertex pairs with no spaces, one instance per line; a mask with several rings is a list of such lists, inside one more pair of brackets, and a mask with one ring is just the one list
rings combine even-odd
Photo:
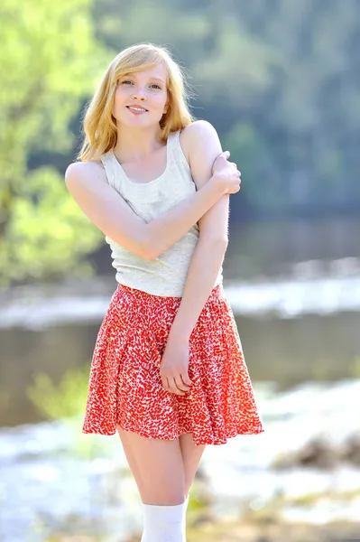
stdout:
[[[187,133],[184,133],[187,131]],[[197,188],[211,177],[212,165],[222,152],[217,131],[207,121],[196,121],[181,134],[189,149],[189,165]],[[198,220],[199,238],[189,265],[180,306],[169,340],[189,341],[222,266],[228,239],[229,195],[226,194]]]

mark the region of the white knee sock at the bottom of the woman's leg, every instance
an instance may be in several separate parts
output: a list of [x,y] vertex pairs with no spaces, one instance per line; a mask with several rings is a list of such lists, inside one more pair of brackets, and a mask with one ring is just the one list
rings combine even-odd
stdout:
[[143,504],[141,542],[186,542],[186,509],[189,495],[181,504],[161,506]]

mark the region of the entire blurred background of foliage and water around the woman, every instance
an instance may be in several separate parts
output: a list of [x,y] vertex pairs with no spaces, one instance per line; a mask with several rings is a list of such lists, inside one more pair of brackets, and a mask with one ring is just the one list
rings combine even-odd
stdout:
[[116,436],[81,435],[115,290],[63,175],[115,54],[166,45],[242,172],[224,264],[266,431],[209,446],[189,541],[360,539],[359,0],[2,0],[0,539],[140,540]]

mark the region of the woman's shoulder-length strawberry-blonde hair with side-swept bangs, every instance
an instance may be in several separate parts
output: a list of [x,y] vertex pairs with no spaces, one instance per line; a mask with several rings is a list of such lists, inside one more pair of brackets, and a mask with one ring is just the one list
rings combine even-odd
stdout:
[[167,71],[168,108],[162,116],[160,127],[165,143],[171,132],[191,124],[195,117],[188,108],[189,92],[180,65],[171,58],[165,48],[152,43],[140,43],[119,52],[109,64],[100,84],[85,111],[83,133],[85,134],[78,160],[98,160],[101,154],[115,147],[117,140],[116,120],[112,114],[117,81],[125,73],[148,70],[162,63]]

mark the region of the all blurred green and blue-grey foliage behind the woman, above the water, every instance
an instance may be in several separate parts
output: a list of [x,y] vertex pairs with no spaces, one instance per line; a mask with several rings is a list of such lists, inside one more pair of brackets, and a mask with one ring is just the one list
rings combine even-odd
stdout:
[[232,220],[359,209],[358,0],[4,0],[0,16],[3,282],[91,272],[103,236],[63,173],[107,61],[135,42],[170,47],[242,171]]

